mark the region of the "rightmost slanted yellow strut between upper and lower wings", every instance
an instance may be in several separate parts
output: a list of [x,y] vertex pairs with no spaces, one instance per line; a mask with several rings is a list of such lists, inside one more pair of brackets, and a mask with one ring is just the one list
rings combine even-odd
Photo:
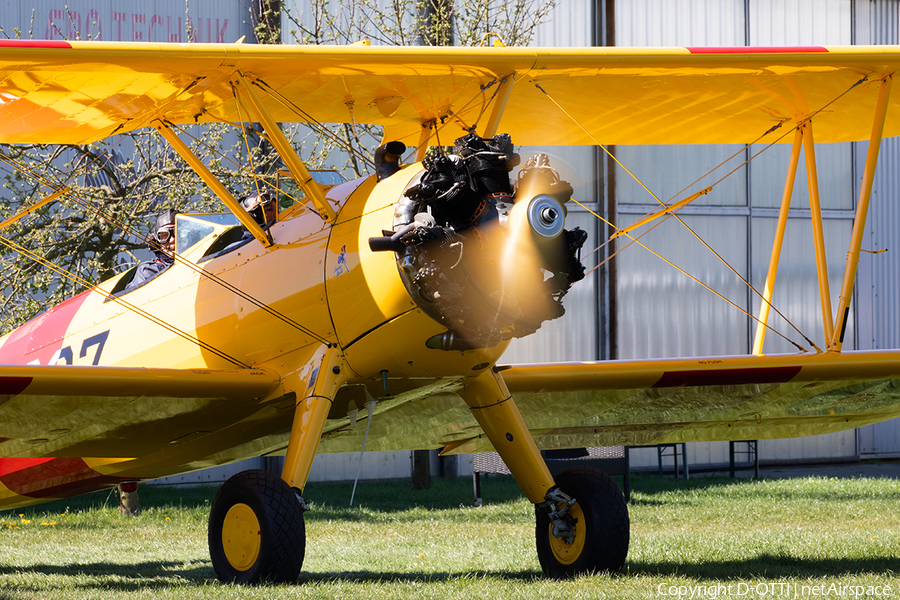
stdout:
[[850,249],[847,251],[847,266],[844,269],[844,281],[841,296],[838,299],[836,320],[838,327],[834,331],[831,347],[840,351],[844,343],[844,331],[850,313],[850,299],[856,283],[856,267],[859,264],[859,252],[865,234],[866,218],[869,214],[869,199],[872,196],[872,184],[875,181],[875,168],[878,166],[878,153],[881,149],[881,137],[884,133],[884,122],[887,117],[888,100],[891,96],[892,77],[885,77],[881,82],[878,104],[875,106],[875,118],[872,123],[872,135],[869,137],[869,149],[866,154],[866,168],[863,172],[862,185],[859,190],[859,202],[856,205],[856,218],[853,221],[853,233],[850,235]]

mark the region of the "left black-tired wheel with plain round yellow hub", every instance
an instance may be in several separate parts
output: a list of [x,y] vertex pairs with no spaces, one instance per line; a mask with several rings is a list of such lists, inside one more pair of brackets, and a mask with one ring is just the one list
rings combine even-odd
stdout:
[[305,552],[303,510],[287,483],[261,470],[225,482],[209,513],[209,555],[220,581],[293,583]]

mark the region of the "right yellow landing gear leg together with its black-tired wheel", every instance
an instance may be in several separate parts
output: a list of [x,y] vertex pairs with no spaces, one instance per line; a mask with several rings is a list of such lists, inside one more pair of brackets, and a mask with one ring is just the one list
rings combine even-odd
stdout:
[[535,505],[538,559],[548,577],[618,571],[628,554],[625,498],[606,473],[576,467],[553,480],[503,378],[486,371],[460,393]]

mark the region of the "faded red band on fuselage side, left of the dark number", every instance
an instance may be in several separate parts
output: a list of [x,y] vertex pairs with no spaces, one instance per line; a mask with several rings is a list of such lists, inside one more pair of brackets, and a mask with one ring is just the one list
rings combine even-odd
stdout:
[[37,360],[46,365],[63,347],[69,325],[90,293],[69,298],[10,333],[0,346],[0,364],[24,365]]

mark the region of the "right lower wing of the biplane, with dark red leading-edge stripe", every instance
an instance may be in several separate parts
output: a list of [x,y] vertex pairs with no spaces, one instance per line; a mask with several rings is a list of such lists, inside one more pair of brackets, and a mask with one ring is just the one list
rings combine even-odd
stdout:
[[[797,437],[900,416],[900,352],[513,365],[502,374],[541,448]],[[491,450],[452,391],[376,407],[367,448]],[[320,450],[358,451],[364,428],[334,425]]]

